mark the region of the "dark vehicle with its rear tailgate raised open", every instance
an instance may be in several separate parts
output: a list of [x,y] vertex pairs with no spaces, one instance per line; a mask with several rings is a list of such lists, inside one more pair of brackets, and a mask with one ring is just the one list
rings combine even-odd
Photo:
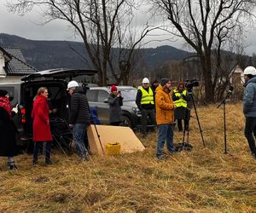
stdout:
[[82,75],[94,75],[94,70],[83,69],[53,69],[34,72],[24,78],[20,83],[0,83],[0,89],[5,89],[12,97],[13,117],[18,130],[18,145],[26,146],[32,141],[32,105],[38,88],[46,87],[49,90],[50,105],[57,108],[54,116],[50,116],[52,135],[55,140],[70,140],[71,132],[67,127],[67,81]]

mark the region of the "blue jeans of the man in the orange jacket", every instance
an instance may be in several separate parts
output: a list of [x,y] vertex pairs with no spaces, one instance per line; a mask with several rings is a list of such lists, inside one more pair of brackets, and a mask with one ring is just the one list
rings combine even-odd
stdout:
[[172,153],[174,151],[172,124],[158,125],[156,157],[160,157],[161,155],[163,155],[165,141],[168,151]]

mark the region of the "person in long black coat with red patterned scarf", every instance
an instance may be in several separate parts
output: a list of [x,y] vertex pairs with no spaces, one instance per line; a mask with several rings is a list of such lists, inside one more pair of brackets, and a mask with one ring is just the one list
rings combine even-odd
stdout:
[[0,156],[8,157],[9,170],[16,170],[14,156],[17,155],[16,129],[8,92],[0,89]]

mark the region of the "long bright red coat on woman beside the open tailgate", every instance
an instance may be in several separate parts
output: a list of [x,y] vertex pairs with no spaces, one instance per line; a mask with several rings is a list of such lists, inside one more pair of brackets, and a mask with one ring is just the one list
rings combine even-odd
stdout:
[[33,103],[33,141],[53,141],[49,128],[49,105],[44,95]]

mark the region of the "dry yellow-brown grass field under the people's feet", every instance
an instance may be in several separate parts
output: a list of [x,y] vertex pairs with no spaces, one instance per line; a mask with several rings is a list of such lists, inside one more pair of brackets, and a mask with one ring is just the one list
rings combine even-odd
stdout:
[[[1,158],[0,212],[256,212],[256,159],[243,136],[241,103],[226,105],[228,154],[223,109],[216,107],[197,107],[206,147],[192,119],[192,152],[166,160],[155,158],[155,134],[141,139],[143,153],[81,164],[75,154],[54,151],[53,165],[41,159],[35,167],[22,154],[19,170],[9,171]],[[182,134],[174,138],[182,141]]]

